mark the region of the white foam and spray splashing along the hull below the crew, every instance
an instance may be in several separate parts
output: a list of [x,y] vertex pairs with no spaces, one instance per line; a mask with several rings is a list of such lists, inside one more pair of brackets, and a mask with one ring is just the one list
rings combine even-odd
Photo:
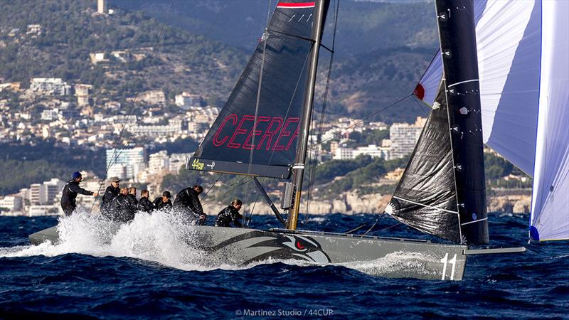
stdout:
[[[248,265],[228,265],[212,261],[206,252],[191,245],[191,230],[184,215],[171,212],[139,212],[129,223],[115,223],[80,208],[73,215],[58,220],[60,241],[57,243],[46,241],[40,245],[4,247],[0,248],[0,257],[55,257],[70,253],[132,257],[188,271],[242,270],[280,262],[269,259]],[[292,260],[287,263],[294,264]]]

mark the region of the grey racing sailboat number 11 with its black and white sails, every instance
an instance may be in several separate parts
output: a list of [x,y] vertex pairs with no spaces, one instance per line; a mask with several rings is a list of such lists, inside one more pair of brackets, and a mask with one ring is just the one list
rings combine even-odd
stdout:
[[[480,100],[482,97],[484,102],[486,94],[484,85],[495,79],[484,78],[486,72],[491,72],[486,68],[479,75],[479,65],[487,61],[486,57],[481,59],[478,57],[481,52],[487,51],[484,51],[484,48],[481,50],[480,46],[477,49],[477,35],[482,32],[479,29],[483,26],[496,28],[496,21],[514,23],[504,17],[504,11],[509,9],[507,6],[514,6],[519,2],[477,1],[474,6],[472,0],[436,1],[440,59],[433,61],[415,90],[415,95],[430,104],[432,110],[405,174],[385,212],[423,233],[435,235],[452,243],[297,230],[316,68],[324,18],[329,6],[328,1],[324,0],[282,1],[277,4],[272,19],[228,102],[196,153],[186,163],[187,169],[198,171],[265,176],[287,181],[281,206],[288,213],[284,228],[255,230],[194,226],[191,227],[193,229],[191,242],[207,252],[211,261],[237,265],[271,258],[336,264],[404,256],[410,263],[394,266],[389,274],[383,275],[443,280],[462,279],[468,255],[525,250],[523,247],[506,249],[472,247],[486,245],[489,242],[483,144],[486,142],[493,148],[499,144],[511,147],[509,142],[506,142],[507,138],[493,137],[494,130],[491,130],[491,139],[485,137],[489,122],[484,121],[487,109],[484,109],[484,105],[481,108]],[[535,38],[532,41],[532,38],[528,39],[529,36],[525,36],[526,32],[536,31],[536,28],[533,28],[536,16],[541,18],[541,14],[551,14],[553,17],[560,17],[555,8],[546,11],[543,6],[544,9],[541,9],[539,1],[532,2],[531,6],[528,5],[529,1],[521,2],[526,3],[526,7],[520,9],[526,15],[517,14],[516,17],[525,17],[526,20],[525,24],[517,21],[515,29],[516,32],[521,32],[522,36],[516,38],[501,35],[511,38],[510,46],[514,48],[506,58],[499,57],[502,63],[507,60],[511,65],[510,68],[506,68],[507,70],[499,70],[499,73],[505,74],[502,77],[506,78],[506,84],[518,78],[515,71],[520,57],[523,57],[520,51],[528,45],[540,49],[543,46],[543,43],[536,45]],[[561,2],[563,1],[548,6],[559,6],[563,9],[565,7]],[[496,7],[499,5],[503,7]],[[563,10],[560,12],[563,13]],[[549,27],[555,30],[566,29],[557,29],[566,27],[563,25],[566,22],[561,19],[553,21],[558,24]],[[537,30],[537,37],[541,38],[541,25],[538,25]],[[535,32],[531,33],[531,36],[535,36]],[[494,41],[500,42],[496,39]],[[504,46],[504,43],[500,43]],[[564,46],[555,54],[555,58],[567,56],[566,42]],[[543,55],[541,59],[545,57],[546,55]],[[491,57],[488,58],[491,60]],[[548,63],[551,65],[551,61],[543,63],[539,55],[537,59],[542,67]],[[566,68],[567,62],[565,61],[565,64],[561,62],[560,66]],[[546,123],[547,130],[534,130],[538,134],[533,138],[527,138],[528,141],[533,141],[533,150],[536,150],[535,146],[539,144],[536,144],[536,139],[551,134],[552,127],[557,128],[557,132],[566,134],[563,131],[566,129],[559,127],[558,123],[555,125],[550,123],[555,120],[568,123],[567,112],[563,111],[568,102],[568,72],[563,68],[560,68],[558,73],[553,73],[555,70],[552,71],[551,68],[549,73],[543,68],[541,73],[537,72],[537,83],[540,79],[543,82],[544,77],[548,77],[549,80],[555,79],[550,81],[549,89],[543,87],[543,90],[549,90],[548,97],[553,95],[555,99],[539,97],[538,101],[518,100],[524,102],[523,105],[528,108],[525,117],[537,119],[539,113],[539,124]],[[558,78],[551,77],[553,74],[556,77],[560,76],[560,82]],[[517,81],[530,85],[527,80]],[[511,98],[507,88],[507,85],[502,85],[497,93],[500,95],[498,102],[494,104],[494,117],[490,123],[496,124],[496,134],[499,130],[503,130],[498,125],[500,121],[506,121],[506,117],[501,117],[503,116],[501,112],[505,110],[504,108],[511,107],[509,105],[511,101],[507,100]],[[543,106],[542,100],[547,100],[548,104]],[[503,103],[506,105],[503,106]],[[519,132],[509,134],[513,137],[517,133]],[[567,138],[567,135],[555,137]],[[546,171],[539,179],[543,181],[541,185],[548,186],[551,177],[554,177],[551,194],[560,195],[553,196],[558,202],[563,201],[563,194],[569,194],[566,192],[569,189],[568,175],[563,176],[568,170],[566,144],[568,140],[560,141],[565,142],[563,150],[557,145],[548,145],[541,151],[533,151],[533,154],[531,149],[526,149],[526,153],[531,155],[522,155],[523,159],[535,156],[536,159],[540,159],[540,164],[551,161],[552,157],[558,161],[560,164],[558,171],[553,173]],[[517,146],[514,146],[514,149],[514,154],[520,156],[523,153],[523,150]],[[559,156],[560,154],[563,156]],[[519,162],[513,160],[515,156],[506,157],[519,165]],[[532,168],[533,162],[532,160]],[[538,161],[535,163],[538,164]],[[547,168],[545,164],[541,166]],[[534,181],[538,183],[538,178]],[[261,187],[258,181],[256,184]],[[549,235],[545,235],[547,233],[545,230],[551,228],[551,219],[543,218],[550,216],[548,209],[552,206],[549,204],[551,197],[548,198],[549,193],[545,193],[543,188],[534,187],[534,196],[535,193],[538,193],[538,196],[545,196],[543,201],[546,202],[538,204],[534,199],[532,206],[543,212],[538,215],[532,214],[532,221],[535,220],[532,226],[537,230],[532,232],[532,238],[540,240],[544,237],[550,238]],[[546,189],[551,190],[551,188]],[[565,198],[565,204],[566,202]],[[557,203],[553,204],[558,213],[563,213],[561,208],[569,208],[568,206],[558,208]],[[271,208],[277,218],[284,223],[285,220],[277,208],[274,205]],[[567,220],[567,213],[564,214]],[[546,220],[550,222],[549,225],[546,225]],[[565,232],[569,229],[567,226],[561,225],[561,227]],[[32,243],[46,239],[57,240],[57,230],[50,228],[31,235],[30,239]]]

